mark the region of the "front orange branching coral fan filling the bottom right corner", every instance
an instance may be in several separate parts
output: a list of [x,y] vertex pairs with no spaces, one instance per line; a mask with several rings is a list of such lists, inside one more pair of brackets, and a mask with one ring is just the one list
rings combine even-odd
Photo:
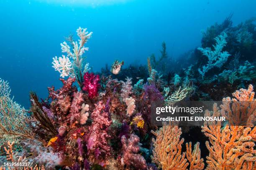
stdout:
[[[213,112],[207,110],[205,116],[220,116],[217,104]],[[256,168],[255,136],[256,127],[229,126],[221,128],[221,122],[205,122],[202,132],[209,138],[206,147],[209,156],[206,157],[207,170],[253,170]]]

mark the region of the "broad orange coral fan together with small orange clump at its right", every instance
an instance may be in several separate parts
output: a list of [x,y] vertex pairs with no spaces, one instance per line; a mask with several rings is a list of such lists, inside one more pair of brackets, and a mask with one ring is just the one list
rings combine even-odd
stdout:
[[[182,134],[181,128],[177,123],[169,122],[163,124],[163,127],[151,133],[156,135],[156,140],[153,139],[153,156],[152,162],[159,165],[163,170],[186,170],[190,163],[190,170],[202,170],[204,168],[203,159],[200,158],[199,143],[197,143],[192,152],[191,143],[187,143],[187,153],[182,152],[182,143],[184,138],[179,140]],[[187,159],[189,163],[187,162]]]

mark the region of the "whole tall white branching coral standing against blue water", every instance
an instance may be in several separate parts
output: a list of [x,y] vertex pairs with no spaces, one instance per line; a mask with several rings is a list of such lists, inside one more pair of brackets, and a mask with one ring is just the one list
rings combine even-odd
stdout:
[[[70,46],[67,44],[66,41],[62,42],[61,45],[61,52],[67,53],[67,57],[62,55],[57,60],[57,57],[53,58],[53,67],[56,71],[61,73],[61,77],[66,76],[74,76],[80,87],[82,87],[82,73],[88,72],[90,70],[89,64],[85,62],[86,57],[82,57],[85,51],[88,51],[88,47],[84,47],[84,44],[88,41],[88,39],[92,36],[92,32],[87,32],[87,28],[79,27],[77,29],[77,36],[80,40],[73,41],[72,38],[67,39],[70,41],[72,45],[72,50]],[[69,57],[72,60],[69,60]],[[84,68],[84,71],[82,69]]]

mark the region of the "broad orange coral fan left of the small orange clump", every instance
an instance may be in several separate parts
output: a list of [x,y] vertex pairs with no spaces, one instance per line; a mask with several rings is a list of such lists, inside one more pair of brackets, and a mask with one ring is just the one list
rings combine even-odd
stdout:
[[182,134],[181,128],[173,122],[163,124],[159,130],[153,131],[156,140],[153,138],[153,156],[152,162],[159,165],[163,170],[185,170],[189,163],[185,158],[185,153],[182,152],[182,143],[180,135]]

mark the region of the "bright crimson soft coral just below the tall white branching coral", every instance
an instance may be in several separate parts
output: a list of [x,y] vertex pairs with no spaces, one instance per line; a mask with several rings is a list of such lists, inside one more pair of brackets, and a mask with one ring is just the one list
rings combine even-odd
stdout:
[[84,73],[83,90],[88,92],[88,96],[93,98],[98,95],[98,90],[100,88],[100,76],[94,75],[93,73]]

